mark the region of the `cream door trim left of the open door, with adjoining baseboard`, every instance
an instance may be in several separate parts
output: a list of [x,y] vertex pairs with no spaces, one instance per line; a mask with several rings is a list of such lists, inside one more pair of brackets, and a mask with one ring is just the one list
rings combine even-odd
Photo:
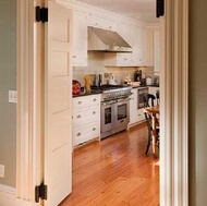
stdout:
[[16,189],[0,186],[2,206],[39,206],[35,185],[41,181],[36,136],[36,99],[34,66],[34,0],[17,0],[17,135]]

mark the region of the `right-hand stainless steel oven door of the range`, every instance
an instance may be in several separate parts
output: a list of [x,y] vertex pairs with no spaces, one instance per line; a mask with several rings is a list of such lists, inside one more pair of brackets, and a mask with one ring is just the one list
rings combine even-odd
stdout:
[[114,128],[123,130],[130,122],[130,98],[118,99],[114,107]]

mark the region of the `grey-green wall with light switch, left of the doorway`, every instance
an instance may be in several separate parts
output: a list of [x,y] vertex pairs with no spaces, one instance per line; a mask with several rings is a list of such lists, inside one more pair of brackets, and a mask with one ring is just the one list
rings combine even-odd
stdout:
[[16,0],[0,1],[0,184],[15,186],[16,104],[9,102],[9,89],[16,89]]

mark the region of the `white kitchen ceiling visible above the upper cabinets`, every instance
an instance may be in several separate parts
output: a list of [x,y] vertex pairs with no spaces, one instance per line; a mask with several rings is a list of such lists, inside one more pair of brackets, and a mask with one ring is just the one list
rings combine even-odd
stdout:
[[78,0],[145,23],[158,23],[156,0]]

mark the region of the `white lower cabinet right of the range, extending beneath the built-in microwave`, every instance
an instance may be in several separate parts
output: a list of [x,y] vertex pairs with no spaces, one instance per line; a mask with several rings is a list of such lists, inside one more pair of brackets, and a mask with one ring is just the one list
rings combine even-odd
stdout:
[[145,120],[145,114],[143,109],[138,109],[138,94],[137,88],[132,89],[131,100],[130,100],[130,126],[137,124]]

